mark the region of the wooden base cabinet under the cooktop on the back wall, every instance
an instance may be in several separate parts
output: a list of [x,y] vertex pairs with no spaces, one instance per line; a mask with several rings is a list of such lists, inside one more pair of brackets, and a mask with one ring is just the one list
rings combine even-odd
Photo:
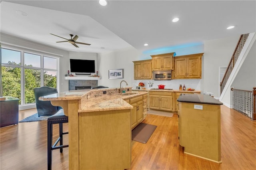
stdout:
[[149,91],[149,108],[163,111],[174,111],[172,95],[172,92]]

